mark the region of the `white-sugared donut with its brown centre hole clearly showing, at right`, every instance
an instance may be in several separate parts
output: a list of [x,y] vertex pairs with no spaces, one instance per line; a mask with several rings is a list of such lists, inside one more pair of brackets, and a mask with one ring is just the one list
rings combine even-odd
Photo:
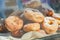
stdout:
[[45,17],[44,22],[42,23],[42,29],[44,29],[48,34],[55,33],[58,29],[58,23],[56,19],[52,17]]

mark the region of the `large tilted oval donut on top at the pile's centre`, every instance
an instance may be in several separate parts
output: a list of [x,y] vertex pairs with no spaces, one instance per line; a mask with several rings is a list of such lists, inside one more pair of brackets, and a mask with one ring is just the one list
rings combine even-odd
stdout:
[[24,16],[27,20],[36,23],[41,23],[44,20],[43,14],[36,9],[26,8],[24,11]]

